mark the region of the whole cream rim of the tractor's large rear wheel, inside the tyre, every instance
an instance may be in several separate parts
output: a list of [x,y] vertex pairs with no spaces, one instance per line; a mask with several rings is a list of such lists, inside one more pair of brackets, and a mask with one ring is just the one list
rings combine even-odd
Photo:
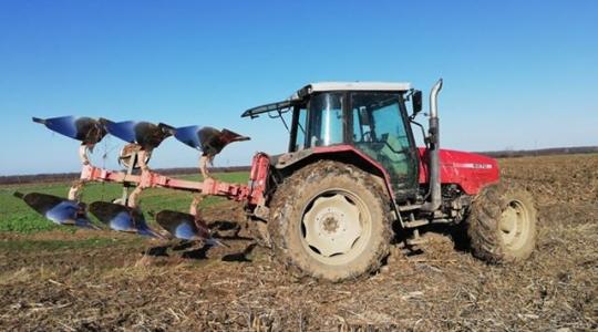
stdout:
[[310,256],[327,264],[340,264],[358,257],[371,232],[368,207],[347,190],[317,195],[302,216],[303,247]]

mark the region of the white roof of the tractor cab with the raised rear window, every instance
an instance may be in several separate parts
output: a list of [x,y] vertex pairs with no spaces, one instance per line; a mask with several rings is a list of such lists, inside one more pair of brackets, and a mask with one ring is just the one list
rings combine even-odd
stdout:
[[257,117],[261,113],[266,112],[280,112],[281,110],[289,108],[295,104],[301,103],[307,96],[316,92],[324,91],[396,91],[405,92],[411,90],[411,83],[399,82],[319,82],[310,83],[296,93],[293,93],[288,100],[277,103],[270,103],[245,111],[241,117],[251,116]]

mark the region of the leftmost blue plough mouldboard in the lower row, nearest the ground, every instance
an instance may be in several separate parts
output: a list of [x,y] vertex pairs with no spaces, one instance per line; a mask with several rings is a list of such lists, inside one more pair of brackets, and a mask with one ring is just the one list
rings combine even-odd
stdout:
[[85,205],[82,203],[41,193],[24,195],[14,193],[13,195],[54,224],[100,229],[91,224],[85,212]]

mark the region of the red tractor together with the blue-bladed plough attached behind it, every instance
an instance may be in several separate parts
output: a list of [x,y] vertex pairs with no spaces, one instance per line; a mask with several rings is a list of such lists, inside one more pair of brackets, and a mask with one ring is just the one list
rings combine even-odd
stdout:
[[[197,205],[206,195],[228,197],[245,203],[261,240],[291,271],[332,281],[378,270],[395,232],[413,246],[422,241],[419,228],[434,224],[465,225],[471,248],[482,259],[523,260],[535,246],[533,199],[525,190],[499,184],[494,159],[440,148],[441,89],[442,80],[430,94],[427,134],[415,122],[422,93],[406,83],[309,84],[286,101],[246,111],[243,116],[280,117],[290,133],[288,153],[256,154],[248,185],[223,183],[207,172],[206,165],[224,146],[249,139],[227,129],[34,118],[82,142],[81,178],[68,199],[16,195],[56,224],[96,228],[87,218],[91,211],[114,230],[165,238],[145,222],[138,197],[151,187],[187,190],[196,193],[189,214],[165,210],[156,221],[173,237],[212,243],[219,241],[212,239]],[[415,145],[414,126],[421,128],[425,147]],[[126,173],[90,164],[87,151],[106,134],[128,143],[121,155]],[[203,152],[204,181],[179,180],[148,168],[152,151],[168,136]],[[87,181],[121,183],[123,196],[87,207],[80,201]]]

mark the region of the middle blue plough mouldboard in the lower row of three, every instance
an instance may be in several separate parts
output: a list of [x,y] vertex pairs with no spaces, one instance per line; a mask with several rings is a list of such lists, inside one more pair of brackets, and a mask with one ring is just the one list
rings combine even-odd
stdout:
[[114,203],[94,201],[90,205],[90,212],[113,230],[164,239],[147,226],[143,212],[138,209]]

